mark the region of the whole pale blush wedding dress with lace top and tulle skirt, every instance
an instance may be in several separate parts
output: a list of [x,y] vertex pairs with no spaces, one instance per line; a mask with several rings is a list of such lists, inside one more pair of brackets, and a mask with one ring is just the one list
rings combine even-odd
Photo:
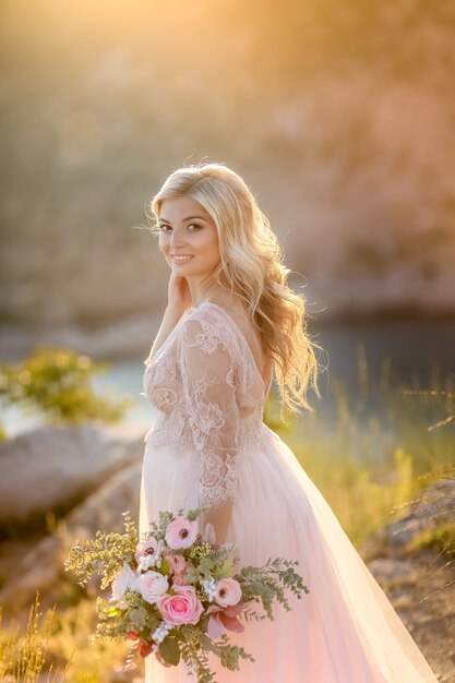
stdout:
[[[309,595],[275,620],[227,632],[255,662],[217,683],[436,683],[391,602],[289,447],[263,422],[264,386],[243,333],[203,302],[182,315],[144,372],[159,410],[145,438],[141,534],[158,512],[234,500],[227,541],[238,571],[270,558],[298,560]],[[255,609],[261,609],[254,603]],[[145,660],[146,683],[194,683],[183,663]]]

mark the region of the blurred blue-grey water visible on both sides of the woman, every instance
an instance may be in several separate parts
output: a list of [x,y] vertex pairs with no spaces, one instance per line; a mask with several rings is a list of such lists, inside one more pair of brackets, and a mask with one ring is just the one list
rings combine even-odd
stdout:
[[[366,358],[368,376],[376,380],[381,364],[388,358],[392,380],[407,382],[418,374],[422,386],[428,386],[434,367],[442,378],[455,373],[455,321],[402,321],[391,323],[337,324],[319,329],[311,326],[311,334],[316,344],[328,354],[323,354],[321,363],[328,360],[328,371],[321,375],[320,391],[323,397],[318,409],[330,407],[331,378],[357,381],[359,361]],[[142,395],[144,364],[125,360],[112,363],[104,375],[96,375],[93,385],[96,393],[115,392],[129,394],[134,399],[133,407],[127,412],[124,422],[145,431],[154,422],[156,410]],[[3,423],[10,435],[28,430],[40,423],[37,416],[24,416],[17,408],[3,412]]]

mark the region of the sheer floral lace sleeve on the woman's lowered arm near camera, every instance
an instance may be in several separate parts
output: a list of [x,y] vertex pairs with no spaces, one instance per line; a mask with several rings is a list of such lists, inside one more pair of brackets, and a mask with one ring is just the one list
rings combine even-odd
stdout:
[[239,408],[234,360],[216,325],[188,320],[180,335],[180,368],[193,442],[201,454],[200,504],[234,501]]

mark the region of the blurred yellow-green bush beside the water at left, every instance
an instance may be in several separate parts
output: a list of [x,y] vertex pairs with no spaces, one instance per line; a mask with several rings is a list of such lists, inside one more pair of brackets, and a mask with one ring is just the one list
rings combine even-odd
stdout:
[[17,366],[0,364],[0,400],[39,411],[49,424],[119,422],[132,398],[96,396],[91,385],[108,368],[71,349],[40,347]]

